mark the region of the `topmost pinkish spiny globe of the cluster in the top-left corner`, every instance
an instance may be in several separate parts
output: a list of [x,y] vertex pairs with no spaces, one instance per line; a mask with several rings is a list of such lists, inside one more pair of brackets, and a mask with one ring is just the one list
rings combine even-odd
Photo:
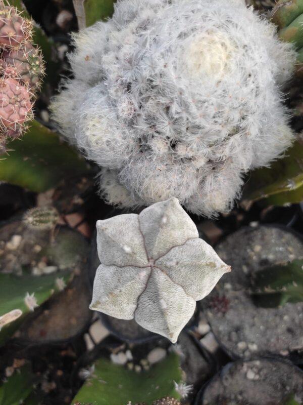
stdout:
[[32,22],[21,16],[14,7],[0,2],[0,47],[16,48],[31,39]]

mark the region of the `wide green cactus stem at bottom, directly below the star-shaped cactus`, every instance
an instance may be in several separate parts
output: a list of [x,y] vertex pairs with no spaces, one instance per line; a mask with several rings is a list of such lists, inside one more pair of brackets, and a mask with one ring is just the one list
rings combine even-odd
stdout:
[[150,404],[168,395],[179,399],[174,381],[181,381],[179,357],[175,353],[141,373],[102,358],[96,361],[92,376],[83,384],[72,404],[126,405],[129,401]]

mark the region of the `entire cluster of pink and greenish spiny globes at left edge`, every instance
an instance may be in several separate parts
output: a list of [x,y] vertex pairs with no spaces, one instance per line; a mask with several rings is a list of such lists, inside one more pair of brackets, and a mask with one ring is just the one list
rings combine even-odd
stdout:
[[32,44],[33,23],[16,8],[0,1],[0,153],[8,139],[24,133],[33,116],[44,63]]

